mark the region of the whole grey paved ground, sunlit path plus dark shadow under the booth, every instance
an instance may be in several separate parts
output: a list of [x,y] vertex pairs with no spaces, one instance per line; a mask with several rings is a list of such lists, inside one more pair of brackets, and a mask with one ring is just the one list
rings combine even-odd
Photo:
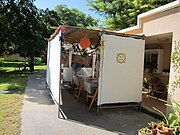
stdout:
[[76,101],[73,92],[63,90],[62,110],[67,120],[59,119],[58,106],[54,104],[45,89],[45,73],[36,72],[29,77],[25,90],[22,109],[21,135],[134,135],[147,122],[155,118],[137,111],[137,108],[103,109],[102,115],[96,114],[93,107],[88,112],[84,99]]

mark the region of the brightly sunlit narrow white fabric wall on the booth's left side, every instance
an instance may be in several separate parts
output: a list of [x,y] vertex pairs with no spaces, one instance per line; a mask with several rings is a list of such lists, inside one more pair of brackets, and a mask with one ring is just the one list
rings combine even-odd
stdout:
[[[59,34],[48,43],[46,82],[53,98],[59,103],[60,41]],[[61,94],[61,92],[60,92]],[[61,95],[60,95],[61,96]],[[61,99],[61,98],[60,98]],[[60,104],[62,101],[60,100]]]

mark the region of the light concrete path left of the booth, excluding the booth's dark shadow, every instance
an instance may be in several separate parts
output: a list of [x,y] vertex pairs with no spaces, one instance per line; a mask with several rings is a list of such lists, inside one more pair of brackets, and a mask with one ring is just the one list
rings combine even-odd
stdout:
[[58,106],[45,89],[45,72],[30,75],[21,113],[21,135],[113,135],[115,133],[58,118]]

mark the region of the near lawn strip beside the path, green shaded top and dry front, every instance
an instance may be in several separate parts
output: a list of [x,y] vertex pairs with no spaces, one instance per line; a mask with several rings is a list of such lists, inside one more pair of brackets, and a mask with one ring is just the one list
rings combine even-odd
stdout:
[[0,74],[0,90],[17,90],[17,94],[0,94],[0,134],[18,135],[20,112],[27,75]]

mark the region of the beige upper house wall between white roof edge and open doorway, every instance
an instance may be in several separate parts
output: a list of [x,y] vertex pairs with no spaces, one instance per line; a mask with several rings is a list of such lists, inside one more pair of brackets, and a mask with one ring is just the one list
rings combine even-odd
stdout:
[[180,7],[142,19],[146,36],[178,31]]

